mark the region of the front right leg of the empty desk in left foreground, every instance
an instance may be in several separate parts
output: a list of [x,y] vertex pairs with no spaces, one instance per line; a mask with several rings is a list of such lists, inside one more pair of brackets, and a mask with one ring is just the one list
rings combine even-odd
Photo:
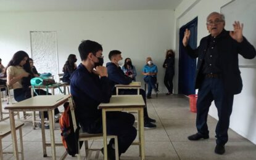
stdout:
[[50,125],[50,135],[51,135],[51,146],[52,146],[52,159],[56,160],[56,150],[55,150],[55,137],[54,137],[54,118],[52,110],[48,111],[49,125]]

